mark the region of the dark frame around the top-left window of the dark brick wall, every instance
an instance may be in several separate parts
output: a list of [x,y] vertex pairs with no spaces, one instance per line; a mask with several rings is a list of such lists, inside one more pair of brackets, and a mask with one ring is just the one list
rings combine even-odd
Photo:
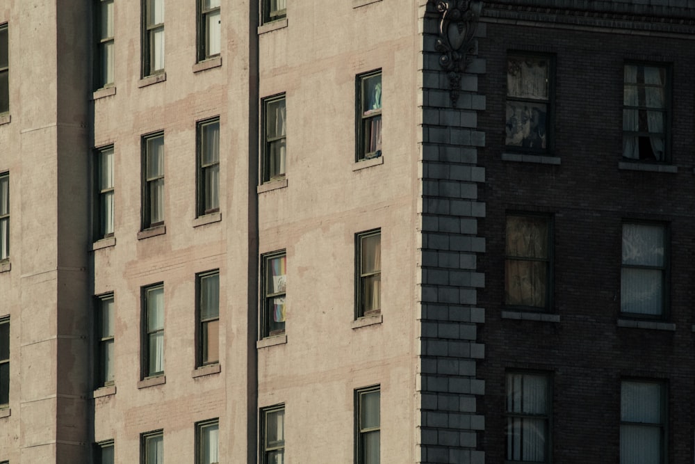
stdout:
[[[547,99],[534,99],[530,97],[515,97],[509,95],[509,61],[512,58],[518,58],[523,60],[524,58],[535,58],[535,59],[546,59],[548,61],[548,98]],[[549,53],[539,53],[537,51],[528,50],[508,50],[507,56],[505,58],[506,72],[505,72],[505,133],[512,130],[510,127],[509,120],[507,119],[507,104],[508,102],[518,102],[521,104],[533,104],[540,103],[546,105],[546,146],[545,147],[524,147],[518,145],[507,145],[507,135],[505,135],[505,150],[509,152],[521,152],[527,154],[537,154],[541,156],[552,155],[555,150],[555,54]]]

